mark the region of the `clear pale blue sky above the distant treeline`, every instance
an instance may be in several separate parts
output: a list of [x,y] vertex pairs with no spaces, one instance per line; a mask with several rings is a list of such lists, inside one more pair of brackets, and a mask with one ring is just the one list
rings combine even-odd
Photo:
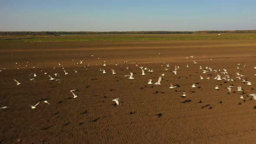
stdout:
[[0,0],[0,31],[256,29],[256,0]]

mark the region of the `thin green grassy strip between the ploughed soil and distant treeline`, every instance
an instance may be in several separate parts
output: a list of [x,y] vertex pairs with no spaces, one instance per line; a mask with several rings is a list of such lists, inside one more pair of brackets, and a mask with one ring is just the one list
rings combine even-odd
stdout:
[[[24,38],[24,39],[22,39]],[[27,38],[27,39],[26,39]],[[154,35],[61,35],[61,36],[2,36],[5,42],[47,41],[127,41],[127,40],[207,40],[207,39],[256,39],[255,33],[241,34],[154,34]]]

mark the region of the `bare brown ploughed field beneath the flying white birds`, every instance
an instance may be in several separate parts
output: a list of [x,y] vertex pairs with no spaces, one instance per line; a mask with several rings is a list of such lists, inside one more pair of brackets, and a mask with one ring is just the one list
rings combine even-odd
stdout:
[[[141,75],[135,62],[154,72]],[[168,70],[163,62],[170,64]],[[177,75],[171,72],[175,65],[180,66]],[[208,69],[204,74],[199,66],[217,73]],[[256,39],[0,42],[0,107],[7,106],[0,109],[0,144],[255,143],[256,101],[249,96],[256,93],[253,66]],[[223,69],[235,81],[213,79],[224,77]],[[124,77],[130,72],[135,79]],[[253,85],[242,83],[236,72]],[[147,84],[162,73],[161,85]],[[48,75],[60,82],[49,81]],[[180,87],[171,89],[170,84]],[[234,87],[228,94],[230,85]],[[236,91],[237,86],[243,91]],[[77,98],[72,98],[72,89],[77,89]],[[114,105],[115,98],[120,98],[119,105]]]

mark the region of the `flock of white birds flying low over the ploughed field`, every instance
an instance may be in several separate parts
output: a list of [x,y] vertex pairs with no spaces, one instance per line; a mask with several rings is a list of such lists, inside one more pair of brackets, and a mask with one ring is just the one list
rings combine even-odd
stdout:
[[[160,53],[159,53],[159,54],[160,54]],[[93,55],[92,55],[92,56],[93,56]],[[194,56],[186,57],[186,59],[190,59],[190,58],[192,59],[192,58],[194,58]],[[99,58],[98,58],[98,59],[99,59]],[[212,59],[211,59],[211,60],[212,60]],[[74,61],[74,60],[72,60],[72,61]],[[125,62],[123,62],[123,63],[125,64],[126,69],[129,69],[129,68],[128,68],[128,65],[126,65],[127,62],[128,62],[128,61],[125,61]],[[194,62],[194,65],[197,65],[197,62],[196,62],[195,60],[193,60],[193,62]],[[28,62],[27,62],[27,63],[28,63]],[[82,64],[82,63],[83,63],[83,61],[81,60],[81,61],[78,62],[77,64]],[[109,63],[109,64],[110,64],[110,63]],[[17,62],[16,62],[16,65],[17,65]],[[62,66],[60,63],[58,63],[58,65],[59,65],[59,66]],[[75,65],[75,63],[74,63],[74,65]],[[115,65],[119,65],[119,63],[115,63]],[[26,65],[26,66],[27,66],[27,65]],[[89,66],[89,65],[87,65],[87,66]],[[84,68],[85,68],[85,69],[88,69],[87,66],[84,66]],[[106,66],[106,61],[103,62],[103,65],[102,65],[102,66],[103,66],[103,67]],[[154,72],[153,69],[148,69],[148,67],[143,67],[143,66],[140,66],[140,67],[139,67],[139,65],[138,65],[137,62],[135,63],[135,66],[138,67],[139,69],[141,69],[141,76],[146,75],[145,72],[147,72],[147,71],[148,71],[148,72]],[[120,67],[123,68],[123,66],[120,66]],[[161,65],[161,67],[163,67],[164,70],[166,70],[166,71],[169,72],[170,64],[164,62],[164,63]],[[187,65],[186,67],[190,67],[190,65]],[[236,69],[240,69],[240,67],[241,67],[241,65],[240,65],[240,64],[237,64]],[[243,65],[243,67],[246,67],[246,65]],[[35,68],[35,67],[33,67],[33,68]],[[215,79],[216,81],[225,80],[224,83],[227,83],[227,82],[236,81],[236,79],[237,79],[237,80],[240,80],[241,83],[244,83],[244,84],[246,84],[246,85],[252,85],[251,82],[249,82],[246,78],[244,78],[245,75],[240,74],[240,72],[237,72],[237,73],[236,73],[236,77],[232,77],[231,75],[228,75],[228,70],[227,70],[227,69],[223,69],[223,70],[221,70],[221,69],[212,69],[212,68],[210,68],[210,67],[208,67],[208,66],[205,66],[205,68],[203,68],[203,67],[200,66],[200,65],[198,66],[198,68],[199,68],[200,70],[202,70],[202,73],[203,73],[203,74],[210,73],[210,72],[216,73],[216,77],[213,78],[213,79]],[[256,69],[256,66],[253,67],[253,68]],[[4,68],[4,69],[6,69],[6,68]],[[17,69],[19,69],[19,68],[17,68]],[[53,69],[55,69],[55,67],[54,67]],[[180,69],[180,66],[175,65],[175,66],[174,66],[174,69],[171,70],[171,73],[173,73],[173,75],[178,75],[178,69]],[[63,70],[63,72],[64,72],[64,75],[68,75],[68,74],[69,74],[69,72],[67,72],[67,71],[64,69],[63,66],[62,66],[62,70]],[[2,71],[2,70],[1,70],[1,71]],[[0,71],[0,72],[1,72],[1,71]],[[41,70],[41,72],[42,72],[42,71],[43,71],[43,70]],[[107,71],[106,71],[105,69],[100,69],[99,71],[102,72],[102,74],[106,74],[106,73],[107,73]],[[115,72],[114,69],[111,69],[111,71],[112,71],[112,75],[115,75],[115,74],[116,74],[116,72]],[[77,73],[78,71],[76,71],[76,70],[74,69],[74,72]],[[57,81],[57,82],[60,82],[60,79],[57,79],[57,78],[59,78],[59,73],[54,73],[54,74],[51,74],[51,75],[50,75],[48,72],[44,72],[44,75],[48,75],[49,81]],[[53,78],[52,75],[54,75],[55,77]],[[161,85],[161,80],[164,78],[164,75],[165,75],[164,73],[163,73],[162,75],[160,75],[160,76],[158,77],[158,81],[157,81],[157,82],[152,82],[152,79],[149,79],[147,83],[148,83],[149,85],[152,85],[152,84],[154,84],[154,85]],[[209,74],[209,75],[212,76],[212,74]],[[221,75],[223,75],[223,77],[221,77]],[[255,74],[255,75],[256,75],[256,74]],[[37,75],[36,75],[36,73],[31,73],[30,76],[36,77]],[[124,77],[128,77],[128,79],[135,79],[132,72],[130,72],[130,74],[128,74],[128,75],[125,75]],[[243,79],[243,78],[244,78],[244,79]],[[200,78],[198,78],[198,79],[203,80],[204,78],[203,78],[203,76],[200,75]],[[207,77],[206,79],[209,80],[210,77]],[[30,81],[33,81],[33,80],[34,80],[33,78],[30,79]],[[16,82],[16,85],[21,85],[21,84],[22,84],[22,83],[20,83],[20,82],[19,82],[18,80],[16,80],[16,79],[14,79],[14,82]],[[197,83],[192,84],[191,87],[192,87],[192,88],[198,88],[198,87],[196,86],[196,84],[197,84]],[[169,87],[169,88],[176,88],[176,87],[179,87],[179,85],[172,85],[172,84],[170,84],[170,87]],[[227,90],[228,90],[228,94],[230,94],[230,93],[232,92],[232,89],[235,88],[235,86],[231,84],[229,87],[226,87],[226,88],[227,88]],[[219,89],[220,89],[220,88],[219,88],[219,85],[216,85],[216,86],[215,86],[215,89],[216,89],[216,90],[219,90]],[[253,88],[252,88],[252,89],[253,89]],[[243,92],[242,86],[238,85],[236,91],[238,91],[238,92]],[[70,93],[72,94],[73,98],[77,98],[78,95],[75,94],[74,92],[75,92],[75,89],[73,89],[73,90],[70,91]],[[243,92],[243,94],[245,94],[245,92]],[[241,98],[241,99],[244,99],[244,98],[245,98],[245,96],[244,96],[243,94],[240,94],[240,98]],[[246,95],[246,96],[247,96],[247,97],[252,96],[252,98],[251,98],[250,100],[252,100],[252,99],[256,100],[256,94],[249,94],[249,95]],[[183,98],[187,97],[185,91],[182,92],[181,97],[183,97]],[[112,101],[114,101],[116,105],[119,105],[119,103],[120,103],[120,99],[119,99],[119,98],[115,98],[115,99],[113,99]],[[44,100],[43,102],[46,103],[46,104],[48,104],[48,105],[50,105],[50,103],[49,103],[48,101],[46,101],[46,100]],[[36,106],[39,105],[39,103],[40,103],[40,101],[38,101],[38,102],[36,103],[36,105],[30,105],[30,107],[31,107],[32,109],[35,109]],[[4,108],[7,108],[7,106],[1,107],[0,109],[4,109]]]

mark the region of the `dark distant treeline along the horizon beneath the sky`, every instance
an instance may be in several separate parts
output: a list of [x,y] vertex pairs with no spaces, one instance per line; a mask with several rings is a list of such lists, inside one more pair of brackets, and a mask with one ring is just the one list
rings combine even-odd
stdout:
[[193,33],[256,33],[256,30],[204,30],[204,31],[127,31],[127,32],[0,32],[0,35],[95,35],[95,34],[193,34]]

